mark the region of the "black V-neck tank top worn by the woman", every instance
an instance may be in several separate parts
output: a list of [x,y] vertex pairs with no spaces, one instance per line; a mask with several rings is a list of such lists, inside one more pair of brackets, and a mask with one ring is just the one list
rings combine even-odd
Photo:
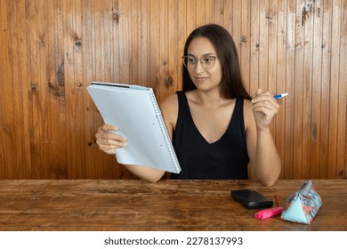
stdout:
[[179,110],[173,132],[173,148],[182,172],[171,173],[171,179],[248,179],[244,100],[236,100],[227,131],[219,141],[210,144],[193,122],[186,94],[176,93]]

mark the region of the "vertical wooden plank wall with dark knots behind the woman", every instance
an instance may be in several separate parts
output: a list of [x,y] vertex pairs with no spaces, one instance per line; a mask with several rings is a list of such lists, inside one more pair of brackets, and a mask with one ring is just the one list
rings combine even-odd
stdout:
[[182,49],[215,22],[246,85],[290,92],[271,126],[283,179],[346,178],[347,1],[0,1],[0,179],[133,178],[94,141],[93,80],[181,88]]

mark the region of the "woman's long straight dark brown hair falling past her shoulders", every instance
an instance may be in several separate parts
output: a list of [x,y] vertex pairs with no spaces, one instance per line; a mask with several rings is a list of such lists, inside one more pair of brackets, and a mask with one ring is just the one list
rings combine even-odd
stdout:
[[[217,52],[218,59],[222,66],[222,95],[226,99],[244,98],[251,100],[251,96],[246,91],[242,80],[241,70],[238,62],[238,52],[236,45],[229,31],[217,24],[207,24],[194,29],[188,36],[184,45],[184,55],[187,55],[190,42],[198,37],[206,37]],[[188,69],[183,66],[183,91],[187,92],[197,87],[193,83],[188,73]]]

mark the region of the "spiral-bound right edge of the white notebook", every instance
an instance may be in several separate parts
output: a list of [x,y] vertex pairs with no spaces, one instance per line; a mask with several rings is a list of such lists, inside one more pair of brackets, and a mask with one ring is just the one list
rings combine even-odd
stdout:
[[180,166],[180,164],[178,162],[178,159],[176,157],[176,153],[174,152],[173,144],[172,144],[172,142],[170,140],[169,133],[167,132],[166,125],[165,125],[163,116],[161,115],[160,108],[157,105],[156,96],[154,95],[153,89],[151,89],[151,88],[149,88],[149,99],[150,99],[150,101],[152,103],[154,112],[156,114],[157,123],[159,124],[161,134],[163,135],[166,148],[169,151],[169,154],[170,154],[171,160],[173,161],[173,165],[174,165],[174,167],[176,169],[176,172],[179,173],[179,172],[181,172],[181,166]]

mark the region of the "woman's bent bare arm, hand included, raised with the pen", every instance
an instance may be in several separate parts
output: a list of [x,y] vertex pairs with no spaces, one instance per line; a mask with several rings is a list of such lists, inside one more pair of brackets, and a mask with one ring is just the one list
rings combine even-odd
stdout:
[[269,92],[258,90],[252,102],[244,108],[246,144],[256,178],[272,186],[281,172],[281,162],[270,133],[270,123],[278,112],[278,103]]

